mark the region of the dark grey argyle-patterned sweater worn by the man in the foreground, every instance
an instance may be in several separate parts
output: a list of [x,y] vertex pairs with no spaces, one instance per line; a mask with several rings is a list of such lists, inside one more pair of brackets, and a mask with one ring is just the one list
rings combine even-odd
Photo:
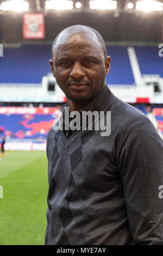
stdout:
[[51,129],[46,245],[163,245],[163,142],[107,86],[84,110],[111,111],[111,134]]

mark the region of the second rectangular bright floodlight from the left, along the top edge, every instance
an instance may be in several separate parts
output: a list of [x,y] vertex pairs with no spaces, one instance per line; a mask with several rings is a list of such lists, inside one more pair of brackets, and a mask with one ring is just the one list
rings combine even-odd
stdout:
[[73,2],[69,0],[47,0],[45,8],[48,10],[71,10],[73,9]]

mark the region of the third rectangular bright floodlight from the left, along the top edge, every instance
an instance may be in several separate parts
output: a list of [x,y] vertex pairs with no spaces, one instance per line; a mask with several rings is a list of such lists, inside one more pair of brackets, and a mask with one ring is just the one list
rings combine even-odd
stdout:
[[91,0],[89,4],[91,9],[115,10],[117,8],[117,1],[113,0]]

